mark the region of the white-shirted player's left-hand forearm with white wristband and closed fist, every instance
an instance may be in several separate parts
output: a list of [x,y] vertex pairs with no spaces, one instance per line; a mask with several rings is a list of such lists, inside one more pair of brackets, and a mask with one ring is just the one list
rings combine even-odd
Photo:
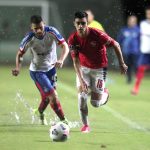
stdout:
[[17,76],[20,73],[23,53],[19,50],[16,55],[16,68],[12,70],[12,75]]

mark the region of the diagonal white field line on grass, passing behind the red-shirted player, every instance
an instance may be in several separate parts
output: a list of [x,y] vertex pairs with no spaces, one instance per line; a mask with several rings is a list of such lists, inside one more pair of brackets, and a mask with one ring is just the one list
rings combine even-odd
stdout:
[[[62,87],[63,90],[65,90],[67,93],[70,93],[73,96],[77,97],[77,91],[73,87],[67,85],[64,82],[60,82],[60,81],[59,81],[59,86]],[[132,121],[129,118],[121,115],[119,112],[115,111],[114,109],[110,108],[109,106],[104,106],[103,108],[107,112],[111,113],[115,118],[117,118],[117,119],[121,120],[122,122],[124,122],[125,124],[127,124],[129,127],[137,129],[137,130],[141,130],[144,132],[148,132],[148,129],[142,127],[141,125],[139,125],[135,121]]]

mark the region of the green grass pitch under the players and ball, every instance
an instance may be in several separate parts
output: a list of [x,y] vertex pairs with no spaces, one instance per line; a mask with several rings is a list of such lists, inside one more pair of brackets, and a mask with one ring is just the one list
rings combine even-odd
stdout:
[[[142,81],[140,93],[132,96],[133,85],[123,75],[108,71],[110,99],[106,106],[89,106],[91,132],[79,127],[75,73],[58,70],[58,94],[66,117],[77,126],[71,128],[66,142],[52,142],[50,126],[33,120],[30,108],[38,107],[40,95],[24,67],[18,77],[12,67],[0,67],[0,150],[150,150],[150,77]],[[50,107],[48,122],[55,119]],[[81,124],[80,124],[81,125]]]

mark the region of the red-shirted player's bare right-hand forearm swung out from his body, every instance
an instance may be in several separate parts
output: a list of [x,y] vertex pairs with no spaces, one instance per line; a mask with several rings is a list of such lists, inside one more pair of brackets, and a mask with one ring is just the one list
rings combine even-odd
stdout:
[[123,56],[122,56],[122,52],[121,52],[121,48],[118,42],[115,42],[115,44],[113,45],[115,53],[117,55],[118,61],[119,61],[119,65],[120,65],[120,70],[122,74],[125,74],[127,72],[127,65],[124,62]]

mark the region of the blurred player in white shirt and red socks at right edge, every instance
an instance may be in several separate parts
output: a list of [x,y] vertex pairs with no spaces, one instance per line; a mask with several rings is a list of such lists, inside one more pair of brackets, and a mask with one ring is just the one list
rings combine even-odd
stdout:
[[140,83],[144,77],[144,72],[150,69],[150,6],[145,9],[146,19],[140,23],[140,50],[141,55],[138,62],[135,85],[132,94],[139,92]]

